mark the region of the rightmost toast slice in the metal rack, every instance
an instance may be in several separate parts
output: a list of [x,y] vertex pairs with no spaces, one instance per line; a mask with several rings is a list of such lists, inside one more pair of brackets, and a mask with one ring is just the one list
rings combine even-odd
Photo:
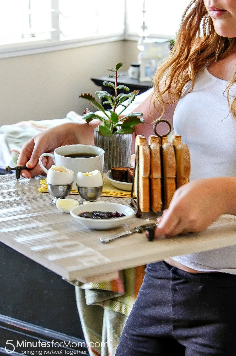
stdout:
[[176,183],[177,188],[189,182],[190,176],[190,154],[188,145],[181,142],[181,136],[171,136],[171,142],[174,145],[176,157]]

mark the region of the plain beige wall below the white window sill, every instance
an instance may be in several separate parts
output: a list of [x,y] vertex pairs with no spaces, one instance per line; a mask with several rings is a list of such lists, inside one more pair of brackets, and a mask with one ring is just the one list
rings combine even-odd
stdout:
[[119,61],[127,70],[136,58],[136,42],[117,41],[0,59],[0,126],[82,114],[88,104],[78,95],[99,90],[90,77]]

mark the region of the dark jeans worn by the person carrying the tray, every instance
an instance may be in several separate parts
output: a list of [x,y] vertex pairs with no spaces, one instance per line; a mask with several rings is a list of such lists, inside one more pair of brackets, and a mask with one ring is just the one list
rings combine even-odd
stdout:
[[116,356],[236,356],[236,276],[150,263]]

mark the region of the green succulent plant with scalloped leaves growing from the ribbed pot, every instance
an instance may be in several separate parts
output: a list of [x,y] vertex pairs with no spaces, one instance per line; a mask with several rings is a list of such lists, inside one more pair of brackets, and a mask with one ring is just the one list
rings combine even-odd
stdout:
[[[117,85],[117,78],[121,77],[125,74],[119,73],[117,71],[123,66],[123,63],[119,62],[116,64],[116,69],[109,68],[107,69],[109,72],[114,74],[109,74],[108,78],[115,79],[115,84],[111,82],[103,82],[104,86],[111,87],[115,90],[115,95],[111,95],[108,91],[101,90],[96,91],[95,94],[98,96],[98,99],[106,99],[103,104],[99,103],[96,98],[90,93],[83,93],[79,95],[79,98],[86,99],[92,104],[96,109],[100,110],[103,114],[99,115],[95,112],[90,112],[87,108],[84,111],[83,119],[86,122],[90,122],[93,119],[99,119],[101,124],[98,126],[98,134],[101,136],[111,137],[113,133],[133,133],[133,127],[135,125],[141,124],[144,122],[144,118],[142,117],[142,112],[132,112],[131,114],[124,116],[119,119],[119,116],[122,112],[127,109],[127,107],[132,103],[135,99],[135,96],[139,93],[139,90],[134,90],[131,93],[121,93],[117,94],[117,90],[122,91],[130,91],[126,85]],[[122,104],[125,100],[128,100],[126,105]],[[110,105],[111,109],[105,110],[103,105]],[[122,109],[119,113],[115,112],[117,106],[122,106]],[[115,129],[115,131],[114,131]]]

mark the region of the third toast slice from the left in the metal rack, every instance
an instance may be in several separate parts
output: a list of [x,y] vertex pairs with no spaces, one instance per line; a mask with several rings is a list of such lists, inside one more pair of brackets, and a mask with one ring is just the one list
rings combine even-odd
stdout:
[[176,161],[173,143],[168,142],[166,137],[162,138],[162,164],[164,185],[163,209],[167,209],[176,189]]

